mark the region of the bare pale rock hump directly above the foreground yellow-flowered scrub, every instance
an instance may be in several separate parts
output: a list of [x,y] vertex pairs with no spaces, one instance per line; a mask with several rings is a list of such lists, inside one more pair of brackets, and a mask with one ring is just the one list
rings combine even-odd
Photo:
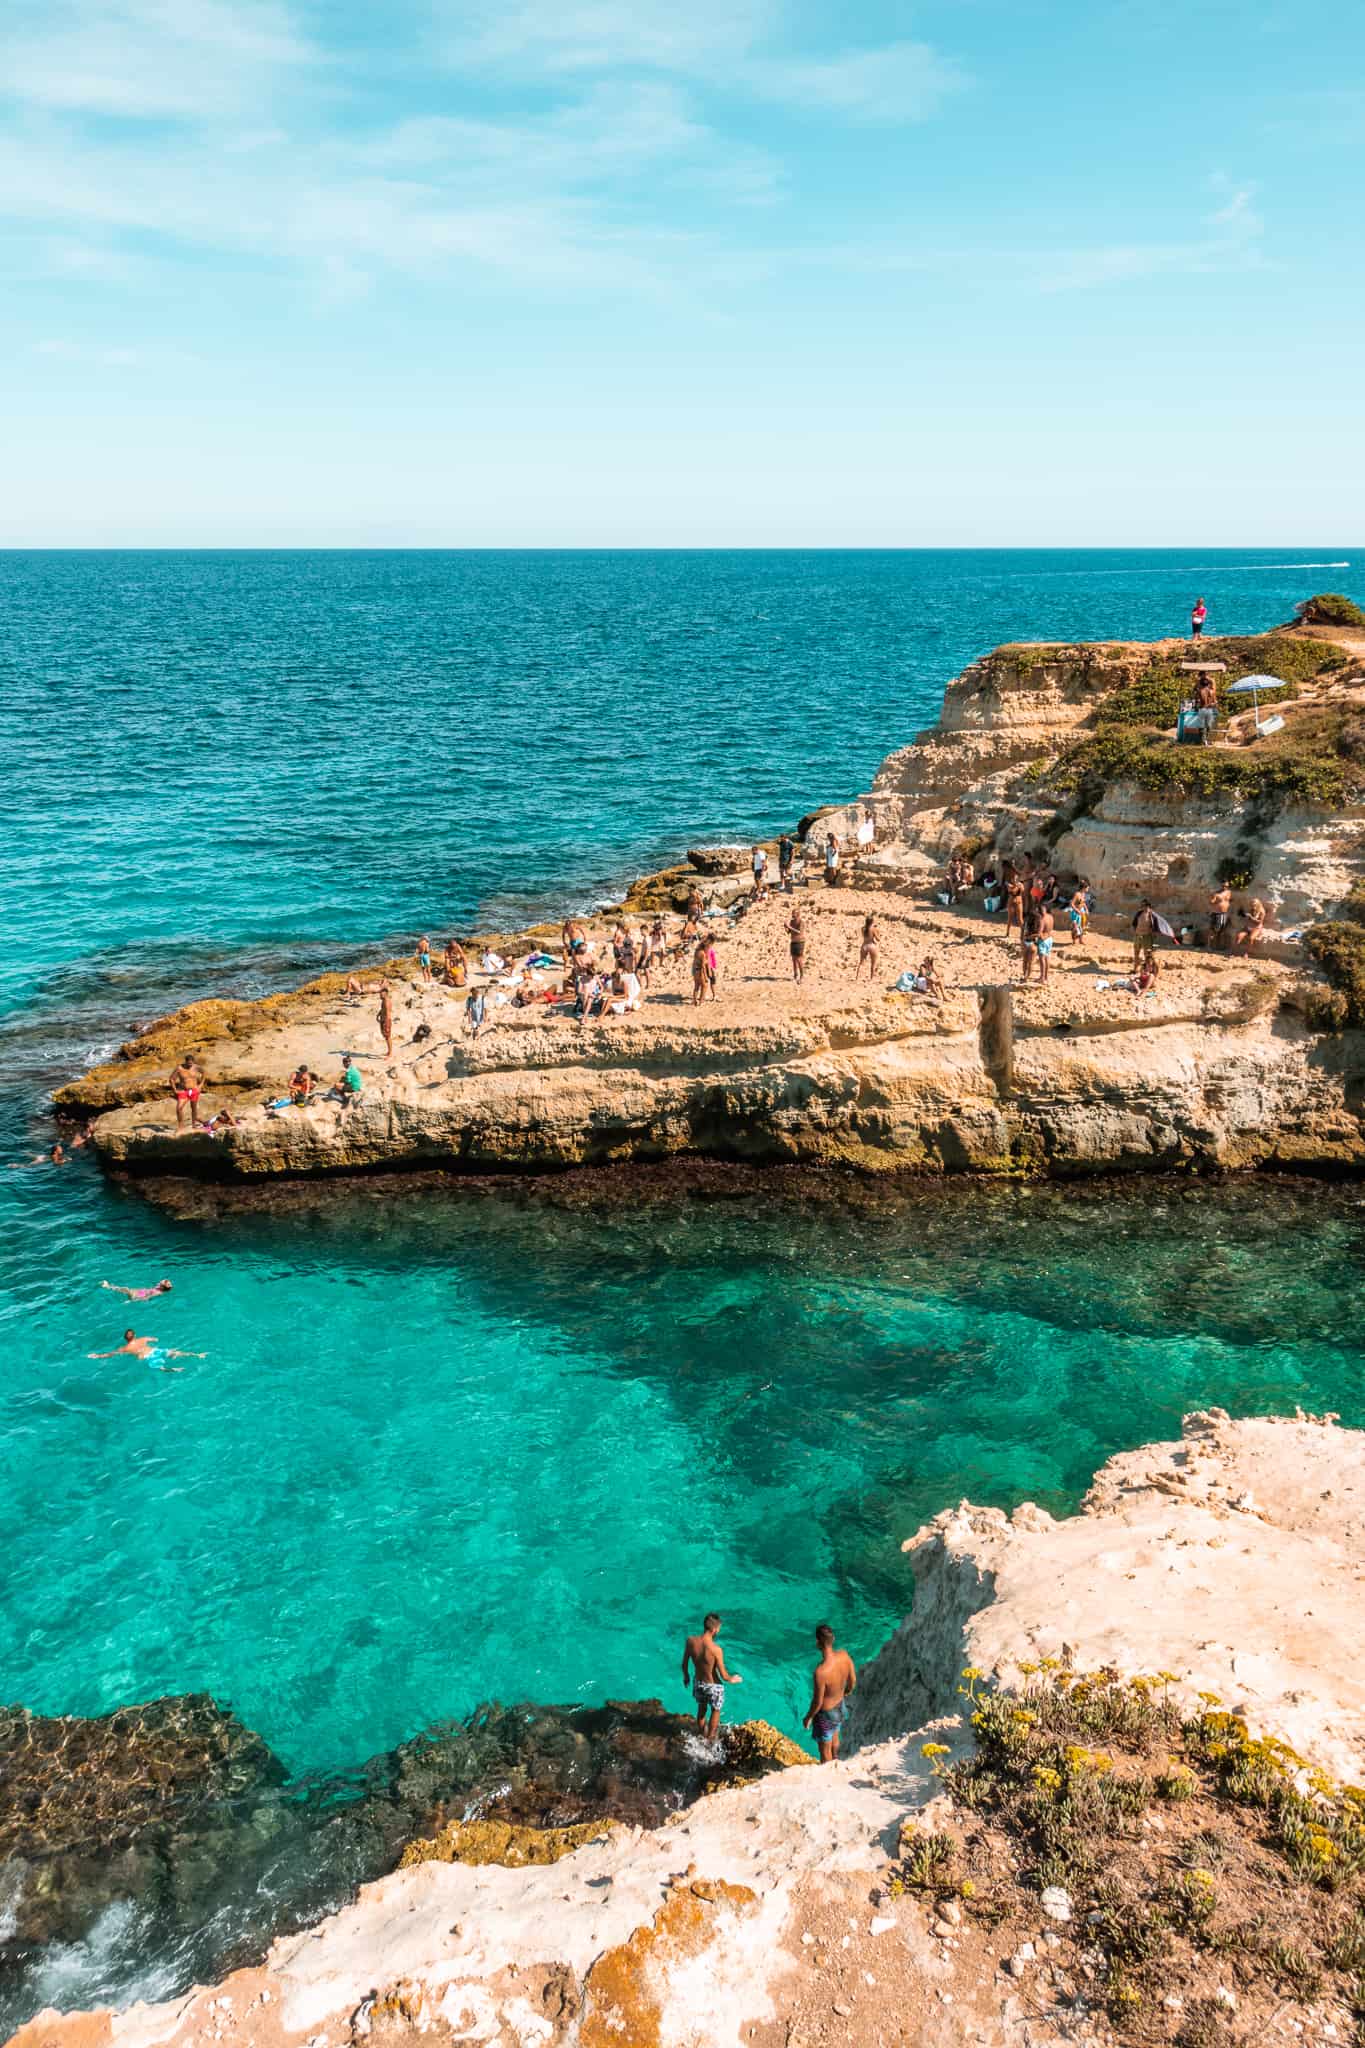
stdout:
[[925,1718],[966,1665],[1171,1671],[1347,1782],[1365,1772],[1365,1436],[1189,1415],[1101,1468],[1078,1516],[960,1507],[909,1538],[915,1616],[864,1673],[855,1733]]

